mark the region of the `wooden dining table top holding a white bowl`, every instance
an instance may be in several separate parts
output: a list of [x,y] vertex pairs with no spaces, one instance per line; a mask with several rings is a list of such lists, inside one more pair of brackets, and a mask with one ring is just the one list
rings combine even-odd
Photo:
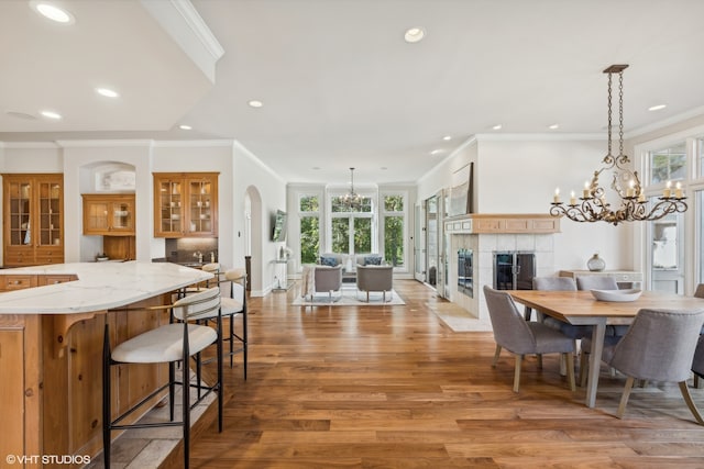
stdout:
[[644,291],[635,301],[600,301],[591,291],[510,290],[518,303],[549,314],[570,324],[593,324],[595,319],[607,323],[630,322],[639,310],[702,310],[704,299],[675,293]]

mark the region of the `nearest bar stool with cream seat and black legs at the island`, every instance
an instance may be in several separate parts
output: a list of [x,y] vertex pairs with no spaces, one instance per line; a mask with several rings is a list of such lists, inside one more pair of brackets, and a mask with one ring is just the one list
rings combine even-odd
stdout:
[[[153,310],[167,308],[172,317],[183,321],[173,322],[151,331],[139,334],[110,348],[110,331],[106,322],[102,353],[102,442],[106,469],[110,468],[110,446],[113,431],[128,428],[151,428],[161,426],[180,426],[184,437],[184,467],[188,468],[190,459],[190,411],[211,392],[218,399],[218,431],[222,432],[222,317],[220,311],[220,289],[218,287],[186,295],[170,305],[153,306]],[[201,317],[217,315],[217,327],[195,324]],[[200,365],[200,353],[211,345],[217,346],[217,378],[216,382],[205,383],[198,379],[191,382],[190,359],[196,358]],[[111,367],[123,364],[168,364],[168,381],[152,392],[148,397],[135,403],[129,410],[112,415]],[[180,364],[180,380],[176,377],[176,364]],[[174,421],[175,387],[182,389],[182,415]],[[190,389],[198,390],[195,402],[190,399]],[[123,424],[125,417],[132,415],[152,398],[168,389],[169,420],[167,422]],[[201,393],[201,391],[205,391]]]

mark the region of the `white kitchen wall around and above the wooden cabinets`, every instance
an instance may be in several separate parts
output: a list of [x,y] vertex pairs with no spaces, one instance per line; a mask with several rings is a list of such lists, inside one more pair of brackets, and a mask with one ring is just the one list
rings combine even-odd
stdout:
[[286,206],[286,183],[251,153],[232,141],[62,141],[4,143],[0,172],[64,174],[65,259],[90,261],[98,249],[96,236],[82,236],[82,200],[90,181],[81,168],[99,163],[123,163],[136,171],[136,252],[148,261],[165,256],[163,238],[154,237],[153,172],[219,172],[219,260],[226,267],[244,266],[244,196],[249,189],[262,197],[260,253],[254,257],[252,293],[271,290],[276,248],[271,242],[271,213]]

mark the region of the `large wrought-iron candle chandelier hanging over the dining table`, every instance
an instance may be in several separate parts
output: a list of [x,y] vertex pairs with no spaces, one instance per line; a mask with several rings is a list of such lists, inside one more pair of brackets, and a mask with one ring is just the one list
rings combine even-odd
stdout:
[[[608,153],[602,160],[602,168],[594,171],[591,182],[584,183],[582,197],[570,196],[570,203],[560,201],[560,189],[556,189],[551,203],[552,216],[566,216],[575,222],[607,222],[614,226],[620,222],[652,221],[663,216],[686,211],[686,199],[680,182],[674,190],[670,181],[662,191],[662,197],[651,202],[646,199],[638,178],[638,171],[629,169],[630,160],[624,155],[624,70],[628,65],[612,65],[604,70],[608,74]],[[618,155],[612,155],[612,75],[618,74]],[[613,174],[610,189],[618,196],[618,208],[612,209],[606,199],[606,191],[600,186],[602,172]],[[606,175],[605,175],[606,176]]]

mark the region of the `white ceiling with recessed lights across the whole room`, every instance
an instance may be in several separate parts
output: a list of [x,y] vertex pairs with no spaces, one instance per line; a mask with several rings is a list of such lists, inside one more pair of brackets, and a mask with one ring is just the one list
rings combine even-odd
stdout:
[[612,64],[627,133],[704,113],[701,0],[191,0],[215,83],[157,21],[168,0],[53,2],[75,24],[0,1],[0,142],[233,138],[287,181],[364,185],[476,134],[603,134]]

